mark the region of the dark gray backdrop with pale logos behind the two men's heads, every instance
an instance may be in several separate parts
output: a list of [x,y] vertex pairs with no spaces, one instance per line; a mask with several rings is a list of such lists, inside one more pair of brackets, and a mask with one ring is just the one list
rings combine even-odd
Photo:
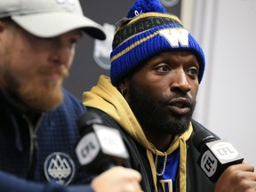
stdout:
[[[108,39],[104,42],[95,41],[91,36],[85,35],[82,42],[77,46],[70,76],[64,82],[64,87],[79,100],[82,100],[84,91],[89,91],[93,85],[97,84],[101,74],[109,76],[109,52],[114,26],[118,20],[127,15],[133,2],[133,0],[80,0],[84,15],[103,25],[108,33]],[[181,0],[163,0],[162,2],[166,4],[167,12],[180,17]],[[100,53],[95,56],[95,52]],[[99,60],[101,64],[104,64],[103,68],[100,67]]]

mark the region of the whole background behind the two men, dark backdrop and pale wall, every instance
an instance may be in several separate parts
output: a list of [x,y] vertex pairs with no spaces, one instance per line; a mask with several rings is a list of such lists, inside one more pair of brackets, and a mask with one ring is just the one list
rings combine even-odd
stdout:
[[[84,14],[104,26],[107,40],[84,36],[64,86],[79,100],[109,76],[109,53],[116,22],[133,0],[80,0]],[[194,118],[228,139],[247,162],[256,166],[256,18],[255,0],[161,0],[180,17],[202,45],[206,58]],[[254,71],[255,70],[255,71]]]

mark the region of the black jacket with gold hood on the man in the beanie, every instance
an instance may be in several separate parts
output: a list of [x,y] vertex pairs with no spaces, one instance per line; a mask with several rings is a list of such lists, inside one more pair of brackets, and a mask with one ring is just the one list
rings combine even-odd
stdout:
[[[163,152],[147,139],[124,96],[110,83],[108,76],[100,76],[98,84],[92,87],[90,92],[84,92],[83,99],[88,109],[95,110],[102,116],[104,124],[122,133],[131,158],[125,166],[132,167],[142,174],[141,186],[144,191],[162,191],[160,179],[156,174],[156,156],[162,159],[164,156],[167,159],[175,156],[175,163],[177,164],[178,161],[175,168],[173,164],[167,164],[168,174],[172,169],[176,172],[174,178],[167,175],[166,179],[161,180],[162,183],[167,182],[168,188],[172,188],[175,192],[213,191],[214,184],[208,180],[196,163],[199,153],[191,141],[195,132],[205,129],[201,124],[192,121],[188,130],[175,136],[172,144]],[[179,156],[175,155],[177,150]]]

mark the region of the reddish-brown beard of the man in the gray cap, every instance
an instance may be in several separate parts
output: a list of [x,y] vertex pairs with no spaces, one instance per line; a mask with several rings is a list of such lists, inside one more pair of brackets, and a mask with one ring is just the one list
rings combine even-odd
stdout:
[[[10,73],[4,73],[5,87],[14,95],[16,101],[25,108],[37,112],[44,112],[56,108],[63,100],[62,84],[63,79],[68,76],[68,69],[63,68],[58,80],[43,80],[40,78],[46,73],[51,73],[51,68],[40,69],[38,78],[31,79],[27,84],[22,84]],[[11,90],[10,90],[11,88]]]

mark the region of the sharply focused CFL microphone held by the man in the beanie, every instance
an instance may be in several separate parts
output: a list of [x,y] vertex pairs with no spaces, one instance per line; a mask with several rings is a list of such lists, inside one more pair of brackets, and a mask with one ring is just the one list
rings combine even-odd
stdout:
[[217,140],[206,130],[196,132],[193,143],[200,153],[197,164],[212,182],[216,182],[228,166],[244,161],[244,157],[231,143],[227,140]]

